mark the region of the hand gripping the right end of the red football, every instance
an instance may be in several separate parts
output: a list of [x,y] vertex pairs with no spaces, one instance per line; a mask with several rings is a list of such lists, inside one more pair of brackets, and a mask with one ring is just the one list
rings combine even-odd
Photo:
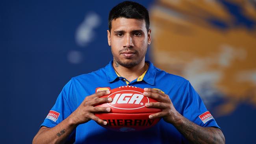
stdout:
[[162,111],[159,113],[151,114],[149,118],[154,119],[154,118],[162,117],[163,120],[165,120],[165,122],[174,124],[177,121],[178,116],[180,116],[180,113],[176,111],[169,96],[158,90],[154,90],[150,88],[145,88],[144,91],[145,91],[143,92],[144,96],[158,100],[158,102],[146,103],[145,106],[162,109]]

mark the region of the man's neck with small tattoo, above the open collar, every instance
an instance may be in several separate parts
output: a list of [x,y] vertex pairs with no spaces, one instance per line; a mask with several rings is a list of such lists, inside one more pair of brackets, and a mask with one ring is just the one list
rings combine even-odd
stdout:
[[114,59],[113,67],[120,76],[126,78],[128,81],[137,79],[148,69],[148,65],[145,65],[145,58],[141,61],[141,63],[133,67],[121,66]]

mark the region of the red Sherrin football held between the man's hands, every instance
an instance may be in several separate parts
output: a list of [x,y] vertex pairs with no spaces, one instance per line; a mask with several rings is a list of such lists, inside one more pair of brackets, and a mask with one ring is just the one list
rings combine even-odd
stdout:
[[160,118],[149,119],[150,114],[158,113],[161,109],[145,107],[145,103],[158,102],[143,95],[144,90],[133,86],[122,86],[110,90],[104,97],[111,97],[112,102],[96,105],[96,107],[111,107],[109,113],[95,113],[100,119],[108,122],[100,126],[114,131],[139,131],[158,123]]

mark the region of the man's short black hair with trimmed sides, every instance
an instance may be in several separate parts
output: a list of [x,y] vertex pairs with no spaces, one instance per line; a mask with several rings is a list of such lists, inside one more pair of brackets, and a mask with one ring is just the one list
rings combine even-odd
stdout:
[[111,31],[111,22],[117,18],[135,18],[145,20],[147,31],[149,30],[148,10],[137,2],[125,1],[113,7],[108,16],[108,28]]

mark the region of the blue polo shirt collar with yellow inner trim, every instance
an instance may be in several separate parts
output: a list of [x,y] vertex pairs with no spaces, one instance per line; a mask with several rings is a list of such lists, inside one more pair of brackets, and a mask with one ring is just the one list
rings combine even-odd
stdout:
[[[154,85],[155,79],[156,79],[156,68],[154,67],[154,65],[150,62],[150,61],[145,61],[146,63],[148,63],[148,70],[146,73],[143,73],[143,75],[141,75],[139,78],[143,78],[137,81],[142,81],[144,80],[146,83],[150,84],[150,85]],[[115,79],[119,78],[119,76],[117,76],[115,69],[113,68],[113,60],[109,62],[109,64],[105,67],[106,70],[106,75],[108,77],[108,82],[111,83],[113,82]]]

